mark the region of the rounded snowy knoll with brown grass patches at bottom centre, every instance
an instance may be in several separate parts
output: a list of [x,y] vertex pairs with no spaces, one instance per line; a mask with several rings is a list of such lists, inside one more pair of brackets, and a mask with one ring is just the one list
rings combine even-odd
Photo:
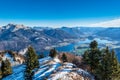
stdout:
[[91,74],[75,67],[72,63],[64,63],[55,73],[49,76],[48,80],[94,80]]

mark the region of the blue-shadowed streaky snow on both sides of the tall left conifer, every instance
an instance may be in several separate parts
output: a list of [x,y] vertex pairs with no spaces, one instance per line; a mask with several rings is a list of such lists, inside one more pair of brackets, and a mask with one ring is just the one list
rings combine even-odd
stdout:
[[[42,80],[49,76],[61,64],[55,62],[51,57],[45,57],[39,60],[40,68],[35,72],[34,80]],[[3,78],[3,80],[24,80],[25,65],[13,67],[13,74]]]

